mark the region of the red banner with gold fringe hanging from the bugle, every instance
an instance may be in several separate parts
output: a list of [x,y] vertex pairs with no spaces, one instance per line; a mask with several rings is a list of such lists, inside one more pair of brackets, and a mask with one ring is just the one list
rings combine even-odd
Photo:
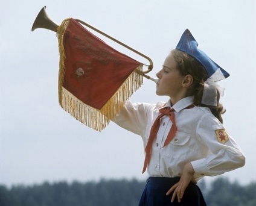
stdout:
[[59,40],[59,104],[101,131],[143,83],[142,63],[107,45],[76,20],[63,20]]

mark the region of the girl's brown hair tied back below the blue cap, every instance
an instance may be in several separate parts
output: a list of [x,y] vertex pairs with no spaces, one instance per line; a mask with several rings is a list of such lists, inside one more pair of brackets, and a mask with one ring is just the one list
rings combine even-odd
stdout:
[[199,105],[200,107],[208,107],[217,119],[223,123],[222,114],[225,113],[225,109],[222,104],[220,104],[220,93],[217,90],[217,106],[210,106],[202,104],[203,96],[203,87],[204,83],[208,78],[205,68],[202,64],[197,61],[195,58],[191,57],[185,52],[179,51],[178,49],[173,49],[171,51],[174,60],[177,62],[177,69],[182,76],[191,75],[193,76],[193,83],[188,89],[188,96],[194,95],[194,104]]

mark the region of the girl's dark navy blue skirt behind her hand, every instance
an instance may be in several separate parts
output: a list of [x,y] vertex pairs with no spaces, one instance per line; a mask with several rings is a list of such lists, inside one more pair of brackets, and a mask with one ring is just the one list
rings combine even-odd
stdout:
[[150,177],[147,179],[147,184],[141,195],[139,206],[205,206],[206,203],[201,190],[193,183],[188,185],[181,202],[178,202],[178,198],[176,198],[174,202],[171,202],[173,193],[168,196],[166,193],[171,186],[178,183],[179,179],[179,177]]

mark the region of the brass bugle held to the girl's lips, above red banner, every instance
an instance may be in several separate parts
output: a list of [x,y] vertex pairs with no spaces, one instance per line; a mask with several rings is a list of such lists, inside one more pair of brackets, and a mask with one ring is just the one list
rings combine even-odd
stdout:
[[[37,14],[36,19],[34,20],[33,26],[31,28],[31,31],[36,30],[37,28],[45,28],[46,30],[51,30],[57,33],[57,28],[59,27],[59,25],[57,25],[57,23],[55,23],[53,20],[50,19],[50,17],[47,15],[46,11],[45,11],[46,6],[44,6],[39,13]],[[85,25],[86,27],[91,28],[92,30],[96,31],[97,33],[100,33],[101,35],[113,40],[116,43],[119,43],[120,45],[124,46],[125,48],[129,49],[130,51],[135,52],[138,55],[141,55],[141,57],[146,58],[147,60],[149,60],[150,65],[146,65],[147,66],[147,70],[146,71],[142,71],[142,75],[144,77],[146,77],[149,80],[154,81],[155,83],[157,83],[158,80],[155,80],[153,78],[151,78],[148,75],[145,75],[146,73],[149,73],[152,71],[153,69],[153,61],[147,57],[146,55],[142,54],[141,52],[136,51],[135,49],[131,48],[130,46],[125,45],[124,43],[118,41],[117,39],[114,39],[113,37],[107,35],[106,33],[103,33],[102,31],[98,30],[97,28],[92,27],[91,25],[89,25],[86,22],[83,22],[80,19],[75,19],[77,20],[77,22],[82,23],[83,25]]]

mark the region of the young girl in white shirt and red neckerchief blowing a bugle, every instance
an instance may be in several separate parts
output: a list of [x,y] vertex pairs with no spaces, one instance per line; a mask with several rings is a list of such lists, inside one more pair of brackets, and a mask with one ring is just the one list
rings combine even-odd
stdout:
[[245,156],[222,125],[222,89],[229,74],[197,49],[186,30],[156,74],[157,104],[127,101],[113,119],[142,137],[149,179],[139,205],[206,205],[196,181],[242,167]]

